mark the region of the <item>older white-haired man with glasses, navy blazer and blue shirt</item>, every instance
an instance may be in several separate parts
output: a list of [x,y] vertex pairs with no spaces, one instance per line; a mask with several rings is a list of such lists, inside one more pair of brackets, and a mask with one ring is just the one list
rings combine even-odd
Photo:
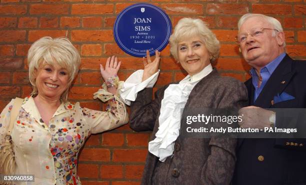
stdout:
[[[238,22],[236,40],[252,67],[245,82],[248,107],[242,128],[286,127],[282,114],[269,108],[305,108],[306,62],[285,53],[280,22],[247,13]],[[306,121],[302,120],[302,125]],[[233,185],[306,185],[305,139],[240,139]]]

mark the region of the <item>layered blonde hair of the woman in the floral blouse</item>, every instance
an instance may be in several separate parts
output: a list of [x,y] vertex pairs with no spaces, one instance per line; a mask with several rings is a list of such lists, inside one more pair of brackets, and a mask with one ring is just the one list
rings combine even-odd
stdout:
[[27,54],[29,81],[33,86],[31,94],[38,93],[35,84],[35,72],[40,65],[54,65],[55,63],[68,71],[68,86],[60,96],[65,102],[68,99],[70,85],[77,74],[80,65],[80,56],[76,48],[66,37],[51,38],[45,36],[35,41]]

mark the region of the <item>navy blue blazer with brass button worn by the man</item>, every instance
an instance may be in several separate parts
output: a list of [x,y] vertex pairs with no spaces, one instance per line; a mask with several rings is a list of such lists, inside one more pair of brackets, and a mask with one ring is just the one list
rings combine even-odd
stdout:
[[[292,60],[286,55],[255,102],[252,79],[244,84],[249,105],[306,108],[306,61]],[[282,92],[294,99],[272,104],[273,97]],[[276,126],[280,122],[276,112]],[[240,139],[232,185],[306,185],[305,145],[306,139]]]

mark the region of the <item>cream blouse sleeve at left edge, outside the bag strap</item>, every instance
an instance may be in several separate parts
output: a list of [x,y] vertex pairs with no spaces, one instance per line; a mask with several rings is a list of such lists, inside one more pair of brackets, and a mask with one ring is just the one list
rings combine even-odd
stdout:
[[5,136],[7,134],[7,129],[9,126],[10,120],[10,111],[12,109],[12,105],[14,103],[14,99],[12,99],[2,110],[0,114],[0,147],[5,142]]

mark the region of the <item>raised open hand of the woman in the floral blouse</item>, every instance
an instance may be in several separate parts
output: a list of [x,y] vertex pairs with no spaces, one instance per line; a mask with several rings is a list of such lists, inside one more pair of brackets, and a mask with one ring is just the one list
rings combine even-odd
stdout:
[[120,64],[121,61],[118,62],[118,59],[115,56],[107,58],[105,69],[103,68],[103,65],[100,64],[100,72],[104,82],[106,82],[108,78],[117,75],[117,72],[120,68]]

